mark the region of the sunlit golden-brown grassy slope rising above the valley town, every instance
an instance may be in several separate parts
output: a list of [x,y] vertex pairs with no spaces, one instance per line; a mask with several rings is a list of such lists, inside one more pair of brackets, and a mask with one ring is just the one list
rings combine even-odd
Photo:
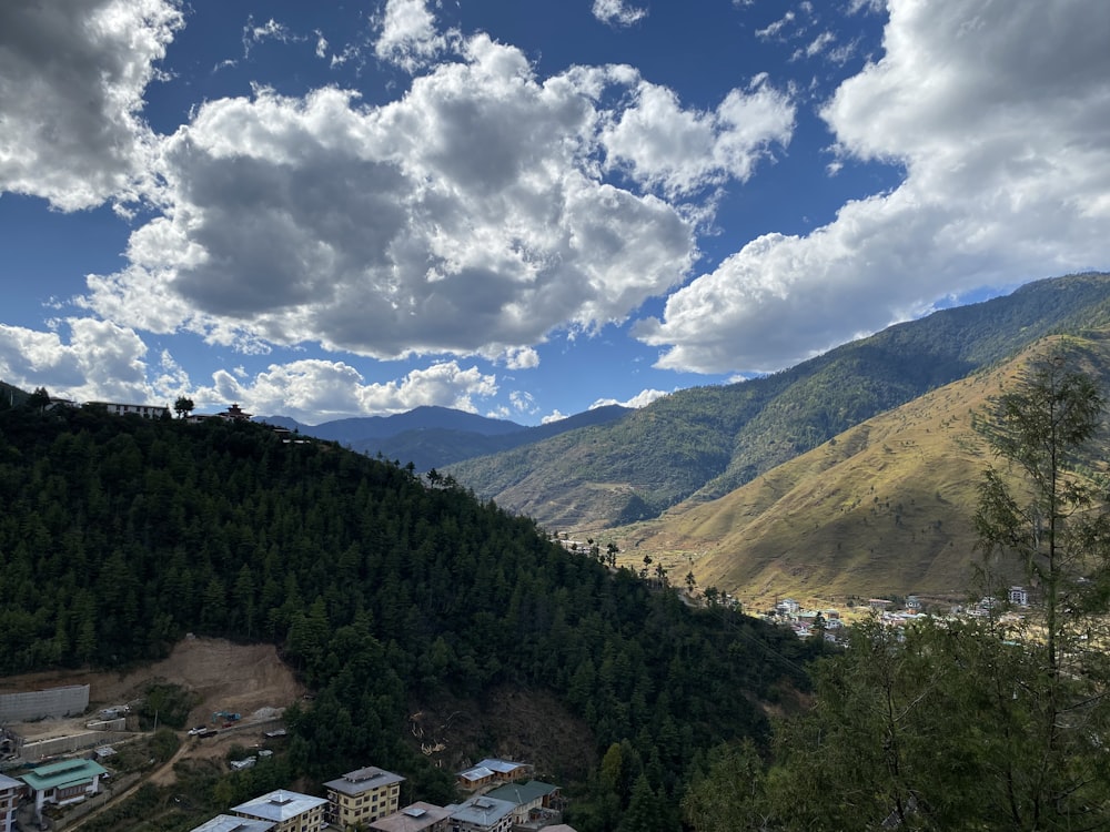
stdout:
[[[1031,358],[1078,351],[1110,389],[1110,333],[1054,336],[1006,364],[846,430],[712,503],[614,530],[624,557],[650,555],[674,582],[693,571],[763,609],[799,600],[917,593],[963,599],[981,562],[971,518],[992,461],[971,415]],[[1021,580],[1017,571],[1006,576]]]

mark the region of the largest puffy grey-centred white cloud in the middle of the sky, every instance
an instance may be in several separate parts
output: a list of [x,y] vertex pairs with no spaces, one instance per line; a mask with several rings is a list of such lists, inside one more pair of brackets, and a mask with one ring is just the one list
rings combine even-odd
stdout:
[[535,366],[551,331],[680,283],[695,230],[666,194],[750,175],[791,119],[764,83],[700,113],[630,68],[541,82],[486,35],[382,106],[334,88],[210,101],[164,142],[163,210],[129,267],[90,276],[82,303],[250,352]]

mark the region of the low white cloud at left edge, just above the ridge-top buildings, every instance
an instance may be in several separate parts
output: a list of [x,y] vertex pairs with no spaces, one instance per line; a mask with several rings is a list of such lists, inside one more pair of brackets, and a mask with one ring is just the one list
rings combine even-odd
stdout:
[[69,318],[58,328],[69,337],[0,324],[0,378],[78,402],[152,402],[147,345],[134,332],[92,318]]

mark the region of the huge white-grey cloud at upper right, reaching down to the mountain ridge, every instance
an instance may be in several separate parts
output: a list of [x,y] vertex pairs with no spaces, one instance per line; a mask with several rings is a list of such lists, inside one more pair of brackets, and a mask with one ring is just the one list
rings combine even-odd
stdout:
[[754,240],[674,293],[637,328],[669,347],[658,366],[777,369],[938,297],[1104,264],[1110,4],[888,8],[886,54],[823,116],[842,163],[905,180],[806,236]]

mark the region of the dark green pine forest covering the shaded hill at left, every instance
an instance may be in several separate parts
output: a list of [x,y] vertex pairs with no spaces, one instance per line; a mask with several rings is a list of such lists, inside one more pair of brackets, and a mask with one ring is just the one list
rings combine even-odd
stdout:
[[588,726],[594,759],[561,781],[579,832],[677,830],[709,749],[766,750],[764,706],[804,693],[821,649],[564,551],[450,477],[256,424],[10,402],[0,673],[134,666],[186,632],[276,643],[314,698],[274,787],[376,764],[447,802],[406,714],[512,686]]

